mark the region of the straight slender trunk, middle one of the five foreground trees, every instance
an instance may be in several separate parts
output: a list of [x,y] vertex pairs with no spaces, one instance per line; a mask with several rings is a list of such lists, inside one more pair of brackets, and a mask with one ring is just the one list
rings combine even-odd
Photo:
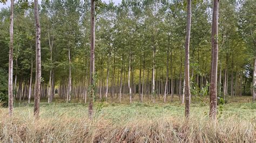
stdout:
[[91,56],[90,56],[90,99],[88,106],[88,116],[93,116],[93,96],[95,86],[95,0],[91,0]]

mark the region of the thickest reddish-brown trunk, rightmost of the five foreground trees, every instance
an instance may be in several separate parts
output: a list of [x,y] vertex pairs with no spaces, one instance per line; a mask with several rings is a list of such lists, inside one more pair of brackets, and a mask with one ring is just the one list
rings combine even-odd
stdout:
[[212,64],[211,64],[211,82],[210,82],[210,113],[212,119],[217,115],[217,70],[218,70],[218,15],[219,0],[214,0],[213,18],[212,18]]

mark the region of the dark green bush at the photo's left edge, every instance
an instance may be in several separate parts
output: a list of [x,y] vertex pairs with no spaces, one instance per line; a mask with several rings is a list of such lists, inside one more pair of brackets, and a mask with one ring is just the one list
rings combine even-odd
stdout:
[[0,68],[0,102],[2,106],[8,105],[8,73]]

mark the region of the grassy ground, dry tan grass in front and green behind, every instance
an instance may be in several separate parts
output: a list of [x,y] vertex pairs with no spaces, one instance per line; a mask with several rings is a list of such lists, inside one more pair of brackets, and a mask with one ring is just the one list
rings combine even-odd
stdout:
[[[170,100],[170,98],[169,98]],[[178,97],[157,104],[96,102],[94,119],[87,118],[87,104],[41,103],[40,118],[33,118],[33,104],[15,104],[14,116],[0,108],[2,142],[254,142],[256,103],[251,97],[230,98],[218,106],[218,122],[208,118],[208,101],[192,99],[190,119]],[[135,99],[134,99],[135,101]],[[136,99],[139,101],[139,99]]]

